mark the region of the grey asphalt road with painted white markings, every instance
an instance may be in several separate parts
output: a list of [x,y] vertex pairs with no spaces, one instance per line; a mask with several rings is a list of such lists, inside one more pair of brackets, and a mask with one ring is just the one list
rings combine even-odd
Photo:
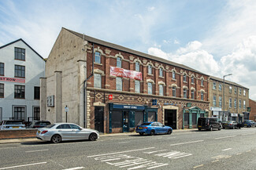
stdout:
[[1,169],[256,169],[256,128],[0,145]]

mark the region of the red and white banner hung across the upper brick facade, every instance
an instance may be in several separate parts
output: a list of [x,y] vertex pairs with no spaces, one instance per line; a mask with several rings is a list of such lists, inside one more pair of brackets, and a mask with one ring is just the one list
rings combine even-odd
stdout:
[[143,80],[143,74],[138,71],[129,71],[119,67],[110,67],[110,75],[122,77],[122,78],[133,78],[136,80]]

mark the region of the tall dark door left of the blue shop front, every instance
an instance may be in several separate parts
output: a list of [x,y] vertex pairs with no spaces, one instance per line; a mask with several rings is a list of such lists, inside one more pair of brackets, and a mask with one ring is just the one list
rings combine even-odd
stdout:
[[104,107],[95,107],[95,130],[104,132]]

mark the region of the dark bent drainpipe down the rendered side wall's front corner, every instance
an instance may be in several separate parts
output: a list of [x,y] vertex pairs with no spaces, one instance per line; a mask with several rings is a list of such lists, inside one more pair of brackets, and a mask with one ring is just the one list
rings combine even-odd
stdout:
[[91,75],[83,81],[83,126],[87,128],[87,90],[86,82],[94,75],[94,56],[95,56],[95,44],[92,43],[92,70]]

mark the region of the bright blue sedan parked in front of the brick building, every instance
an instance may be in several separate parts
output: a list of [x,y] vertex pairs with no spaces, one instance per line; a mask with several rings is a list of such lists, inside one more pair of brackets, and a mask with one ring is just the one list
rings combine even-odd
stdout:
[[141,136],[143,136],[143,134],[154,136],[155,134],[171,134],[173,132],[173,128],[162,125],[156,121],[148,121],[144,122],[142,125],[138,125],[135,128],[135,132],[139,133]]

